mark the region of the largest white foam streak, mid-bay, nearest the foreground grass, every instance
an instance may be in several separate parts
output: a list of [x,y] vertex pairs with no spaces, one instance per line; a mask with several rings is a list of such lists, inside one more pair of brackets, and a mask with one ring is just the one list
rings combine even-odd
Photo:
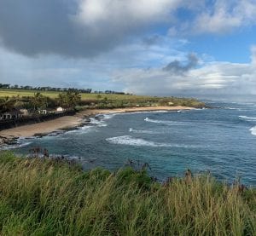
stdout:
[[106,141],[113,144],[138,146],[138,147],[142,147],[142,146],[144,147],[180,147],[180,148],[200,147],[196,145],[169,144],[169,143],[162,143],[162,142],[146,141],[144,139],[131,137],[130,135],[112,137],[112,138],[106,139]]

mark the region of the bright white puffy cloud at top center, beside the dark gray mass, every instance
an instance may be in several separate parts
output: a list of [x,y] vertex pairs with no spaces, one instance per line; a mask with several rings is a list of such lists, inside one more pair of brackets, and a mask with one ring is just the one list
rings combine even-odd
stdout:
[[168,14],[181,3],[183,0],[80,0],[78,20],[92,27],[130,27],[170,18]]

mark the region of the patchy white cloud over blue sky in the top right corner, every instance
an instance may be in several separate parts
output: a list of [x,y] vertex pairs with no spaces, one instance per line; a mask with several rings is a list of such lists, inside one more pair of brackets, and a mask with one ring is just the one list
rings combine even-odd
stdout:
[[176,19],[176,24],[169,28],[170,36],[188,34],[225,34],[240,27],[256,24],[255,0],[215,0],[193,2],[194,7],[183,4],[193,17]]

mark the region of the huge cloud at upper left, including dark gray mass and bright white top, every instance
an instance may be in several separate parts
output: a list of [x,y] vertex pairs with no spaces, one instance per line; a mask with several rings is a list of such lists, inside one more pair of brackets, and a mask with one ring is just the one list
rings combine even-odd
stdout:
[[91,57],[143,34],[181,2],[1,0],[0,42],[29,56]]

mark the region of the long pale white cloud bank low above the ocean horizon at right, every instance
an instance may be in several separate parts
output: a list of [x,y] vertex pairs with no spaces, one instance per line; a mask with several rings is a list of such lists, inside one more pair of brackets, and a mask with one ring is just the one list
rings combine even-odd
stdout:
[[131,68],[115,72],[113,80],[125,83],[126,91],[135,94],[256,95],[254,56],[248,64],[215,61],[183,74],[166,72],[162,66]]

